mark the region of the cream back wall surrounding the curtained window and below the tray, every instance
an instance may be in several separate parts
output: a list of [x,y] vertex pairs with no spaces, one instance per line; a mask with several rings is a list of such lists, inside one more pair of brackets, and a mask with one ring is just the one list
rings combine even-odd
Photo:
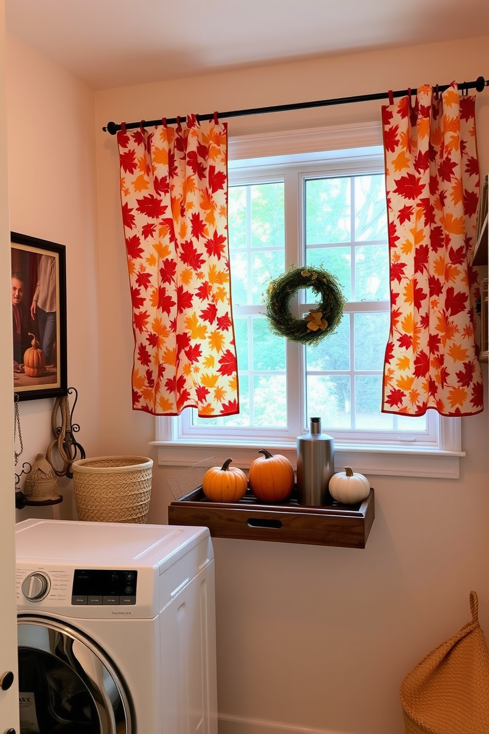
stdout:
[[[379,51],[96,94],[103,314],[101,435],[107,453],[152,455],[154,421],[130,410],[130,300],[109,120],[174,117],[487,78],[489,39]],[[229,135],[378,120],[378,103],[228,120]],[[489,168],[489,91],[477,101]],[[117,370],[115,369],[117,366]],[[485,369],[487,384],[487,369]],[[220,734],[401,734],[402,677],[470,618],[479,594],[489,637],[488,411],[463,419],[460,480],[370,476],[367,548],[215,539]],[[150,520],[172,500],[155,467]]]

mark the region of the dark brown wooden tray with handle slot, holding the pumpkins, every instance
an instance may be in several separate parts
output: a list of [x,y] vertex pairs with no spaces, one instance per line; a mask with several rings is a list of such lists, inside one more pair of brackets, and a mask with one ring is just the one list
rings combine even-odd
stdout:
[[343,548],[365,548],[374,517],[372,489],[358,504],[306,507],[294,493],[283,504],[265,504],[250,491],[239,502],[211,502],[197,487],[168,508],[169,525],[205,526],[216,538]]

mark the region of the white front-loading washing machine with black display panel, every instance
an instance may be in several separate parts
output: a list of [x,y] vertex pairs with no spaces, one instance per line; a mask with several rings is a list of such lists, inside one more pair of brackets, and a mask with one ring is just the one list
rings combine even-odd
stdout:
[[216,734],[207,528],[23,520],[21,734]]

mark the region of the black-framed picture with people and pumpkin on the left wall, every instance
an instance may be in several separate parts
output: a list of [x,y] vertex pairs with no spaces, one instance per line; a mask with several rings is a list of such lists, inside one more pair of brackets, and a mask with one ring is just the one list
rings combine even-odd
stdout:
[[66,395],[65,246],[11,232],[10,247],[14,393]]

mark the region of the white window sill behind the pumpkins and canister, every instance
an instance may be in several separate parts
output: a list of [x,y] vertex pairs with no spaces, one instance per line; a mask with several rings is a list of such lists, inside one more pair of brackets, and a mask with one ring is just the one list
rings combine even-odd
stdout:
[[[262,448],[257,443],[239,440],[156,440],[151,446],[158,447],[158,465],[192,466],[209,457],[216,463],[223,463],[228,457],[240,468],[247,469],[257,451]],[[263,448],[272,453],[282,454],[296,465],[297,449],[294,443],[268,441]],[[460,457],[465,451],[442,450],[414,446],[352,446],[335,442],[334,468],[342,471],[351,466],[355,471],[367,476],[417,476],[428,479],[459,479]]]

